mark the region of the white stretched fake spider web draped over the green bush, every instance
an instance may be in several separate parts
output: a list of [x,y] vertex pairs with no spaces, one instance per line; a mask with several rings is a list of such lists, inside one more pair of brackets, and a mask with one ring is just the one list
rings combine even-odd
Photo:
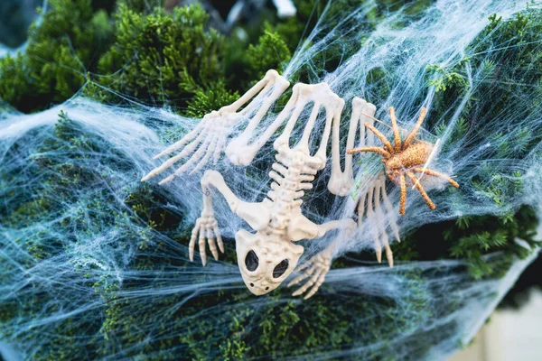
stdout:
[[[371,32],[368,15],[374,2],[364,2],[354,12],[349,8],[346,14],[325,12],[285,69],[285,78],[292,82],[327,82],[346,101],[342,125],[347,124],[353,97],[377,105],[376,116],[383,122],[388,122],[388,106],[395,106],[400,126],[406,130],[414,124],[420,106],[428,107],[431,122],[420,137],[439,140],[440,151],[432,165],[456,174],[461,188],[447,190],[435,184],[432,189],[429,184],[435,211],[409,189],[406,216],[397,218],[401,235],[444,219],[501,215],[522,204],[539,206],[539,140],[532,139],[529,152],[521,156],[514,149],[495,152],[497,134],[513,140],[525,127],[539,134],[540,105],[528,101],[536,97],[535,90],[510,101],[499,119],[481,119],[481,127],[453,139],[462,116],[468,114],[465,109],[472,106],[472,93],[491,81],[491,75],[465,62],[468,91],[439,114],[432,112],[437,87],[427,88],[427,65],[445,69],[476,53],[473,42],[483,42],[479,35],[489,15],[509,19],[525,10],[522,2],[510,3],[441,0],[416,19],[408,16],[405,7]],[[493,49],[506,46],[495,43]],[[322,53],[348,57],[336,69],[325,69],[332,59],[322,59]],[[491,51],[485,56],[491,60]],[[384,74],[382,79],[369,81],[377,73]],[[476,101],[491,107],[498,99]],[[279,111],[279,106],[272,106],[257,134],[265,131]],[[154,154],[196,124],[197,120],[167,109],[133,101],[104,106],[80,96],[34,115],[2,114],[3,342],[25,358],[442,359],[472,339],[536,256],[535,252],[508,264],[500,254],[488,255],[491,266],[508,271],[500,279],[474,281],[461,260],[401,262],[401,255],[396,254],[393,268],[350,261],[346,267],[332,269],[321,290],[305,303],[291,297],[284,285],[271,296],[256,298],[246,290],[232,262],[231,238],[247,226],[232,217],[223,200],[217,199],[214,207],[226,237],[226,255],[220,255],[226,261],[211,261],[206,267],[199,260],[188,262],[186,238],[201,211],[198,174],[182,176],[164,188],[156,182],[139,182],[157,165]],[[232,136],[246,125],[241,119]],[[384,125],[378,129],[390,137]],[[294,136],[301,131],[294,129]],[[225,174],[239,198],[257,201],[268,190],[266,173],[273,154],[269,142],[246,168],[232,165],[225,157],[214,168]],[[381,169],[377,156],[363,158],[356,167],[360,190],[332,198],[325,188],[328,163],[305,200],[304,211],[318,223],[351,217],[356,198],[369,187],[364,180]],[[495,182],[497,173],[521,183],[500,189],[499,202],[483,191]],[[397,188],[388,185],[388,198],[396,210],[398,197]],[[159,207],[162,210],[154,214]],[[164,224],[178,227],[166,232],[161,230]],[[355,240],[340,239],[336,257],[372,252],[375,219],[367,218],[362,227]],[[334,236],[304,243],[302,262]],[[391,234],[389,239],[393,240]],[[442,240],[435,236],[434,242]],[[321,309],[311,308],[313,300]],[[322,309],[330,314],[318,314]],[[290,310],[298,318],[287,319]],[[269,318],[282,319],[283,328],[266,329],[262,322]],[[341,336],[317,347],[307,340],[293,347],[311,328],[320,333],[339,328],[334,335]],[[266,354],[261,335],[267,335],[270,343],[280,340],[284,347]]]

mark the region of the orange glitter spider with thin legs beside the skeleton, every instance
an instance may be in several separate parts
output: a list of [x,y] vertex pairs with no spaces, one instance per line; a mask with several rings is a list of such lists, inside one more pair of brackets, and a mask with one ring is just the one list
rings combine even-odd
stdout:
[[373,132],[375,135],[378,136],[378,139],[382,143],[384,143],[383,147],[376,147],[376,146],[367,146],[367,147],[361,147],[361,148],[352,148],[347,151],[349,154],[353,153],[360,153],[360,152],[372,152],[372,153],[378,153],[384,157],[382,159],[382,162],[386,165],[386,173],[388,174],[388,177],[390,180],[392,180],[394,183],[396,183],[400,189],[401,189],[401,199],[399,203],[399,214],[404,215],[405,214],[405,206],[406,206],[406,177],[412,183],[414,184],[414,187],[416,187],[416,190],[420,192],[422,197],[425,200],[425,203],[427,203],[427,206],[429,206],[430,209],[435,209],[435,203],[427,196],[427,193],[424,190],[424,187],[420,184],[420,180],[416,177],[414,174],[421,173],[431,175],[434,177],[443,178],[444,180],[447,180],[450,184],[453,185],[455,188],[459,188],[459,184],[450,178],[449,176],[440,173],[438,171],[433,171],[429,169],[425,169],[424,164],[427,162],[427,160],[430,157],[430,154],[433,150],[434,144],[427,143],[427,142],[416,142],[413,143],[413,141],[416,138],[416,134],[418,133],[420,126],[422,123],[424,123],[425,119],[425,113],[427,109],[425,107],[422,107],[422,110],[420,111],[420,116],[418,117],[418,120],[416,122],[416,125],[414,125],[414,128],[412,128],[412,131],[408,136],[406,137],[405,141],[401,141],[401,135],[399,134],[399,127],[397,126],[397,118],[395,115],[395,109],[393,107],[389,108],[389,116],[391,117],[391,125],[393,129],[393,135],[394,135],[394,142],[395,144],[392,144],[388,141],[388,139],[384,136],[384,134],[381,134],[378,132],[377,128],[375,128],[372,125],[369,125],[369,123],[365,123],[365,126]]

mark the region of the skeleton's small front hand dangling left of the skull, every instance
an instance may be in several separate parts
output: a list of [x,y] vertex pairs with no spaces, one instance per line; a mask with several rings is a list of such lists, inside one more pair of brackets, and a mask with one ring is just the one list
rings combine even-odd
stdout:
[[[198,245],[200,247],[201,264],[207,263],[207,254],[205,253],[205,241],[209,244],[210,253],[215,260],[219,260],[219,251],[217,250],[217,244],[219,245],[220,252],[224,253],[224,244],[222,237],[220,236],[219,224],[214,218],[214,215],[201,215],[196,219],[194,229],[192,229],[192,236],[188,245],[188,252],[191,262],[194,260],[194,247],[196,245],[196,238],[199,239]],[[216,239],[216,242],[215,242]]]

